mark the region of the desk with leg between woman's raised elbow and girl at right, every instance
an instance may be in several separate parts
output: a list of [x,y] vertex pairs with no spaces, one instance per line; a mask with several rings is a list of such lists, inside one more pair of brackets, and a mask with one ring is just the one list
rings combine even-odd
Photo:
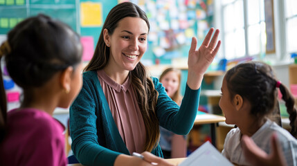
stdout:
[[210,124],[210,138],[213,146],[217,147],[216,136],[215,136],[215,126],[218,122],[225,122],[226,118],[224,116],[217,116],[210,113],[203,113],[199,111],[197,113],[194,125],[198,124]]

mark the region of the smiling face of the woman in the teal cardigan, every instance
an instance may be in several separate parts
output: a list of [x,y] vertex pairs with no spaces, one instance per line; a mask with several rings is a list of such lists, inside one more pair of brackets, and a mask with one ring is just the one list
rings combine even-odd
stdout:
[[148,27],[137,17],[125,17],[118,22],[112,35],[105,38],[111,55],[108,66],[117,71],[132,71],[147,49]]

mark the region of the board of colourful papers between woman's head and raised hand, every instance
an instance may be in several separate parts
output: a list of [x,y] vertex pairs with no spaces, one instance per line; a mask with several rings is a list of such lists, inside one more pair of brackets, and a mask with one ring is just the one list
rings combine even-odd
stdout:
[[171,64],[173,58],[188,57],[192,37],[197,37],[200,46],[213,26],[212,0],[130,1],[140,6],[150,21],[148,48],[142,59],[147,59],[147,64]]

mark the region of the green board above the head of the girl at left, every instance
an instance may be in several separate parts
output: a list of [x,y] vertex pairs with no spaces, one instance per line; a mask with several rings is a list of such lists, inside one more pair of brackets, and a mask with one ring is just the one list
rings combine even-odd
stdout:
[[26,17],[44,13],[78,30],[77,3],[73,0],[0,0],[0,34],[6,34]]

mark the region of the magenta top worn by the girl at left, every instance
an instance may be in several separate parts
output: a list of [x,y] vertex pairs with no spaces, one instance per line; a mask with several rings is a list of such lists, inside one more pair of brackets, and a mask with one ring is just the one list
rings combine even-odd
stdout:
[[38,109],[13,109],[7,122],[0,165],[66,165],[63,127],[51,115]]

